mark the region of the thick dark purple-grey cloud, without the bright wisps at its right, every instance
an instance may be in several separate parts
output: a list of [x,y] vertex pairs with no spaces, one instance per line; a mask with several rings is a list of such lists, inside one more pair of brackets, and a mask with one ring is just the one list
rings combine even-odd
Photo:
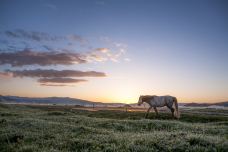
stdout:
[[38,52],[32,50],[23,50],[16,52],[1,52],[0,65],[10,64],[13,67],[24,65],[71,65],[81,64],[87,61],[83,55],[72,52]]

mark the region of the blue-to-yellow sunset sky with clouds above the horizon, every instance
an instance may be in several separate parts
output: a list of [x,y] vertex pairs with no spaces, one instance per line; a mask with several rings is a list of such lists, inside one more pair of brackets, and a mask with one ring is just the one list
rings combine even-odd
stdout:
[[226,0],[1,0],[0,94],[228,100]]

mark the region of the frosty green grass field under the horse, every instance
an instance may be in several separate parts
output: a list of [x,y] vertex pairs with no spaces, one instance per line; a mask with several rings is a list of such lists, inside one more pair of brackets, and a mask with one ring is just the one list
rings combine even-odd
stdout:
[[0,104],[0,151],[228,151],[227,110],[87,111]]

